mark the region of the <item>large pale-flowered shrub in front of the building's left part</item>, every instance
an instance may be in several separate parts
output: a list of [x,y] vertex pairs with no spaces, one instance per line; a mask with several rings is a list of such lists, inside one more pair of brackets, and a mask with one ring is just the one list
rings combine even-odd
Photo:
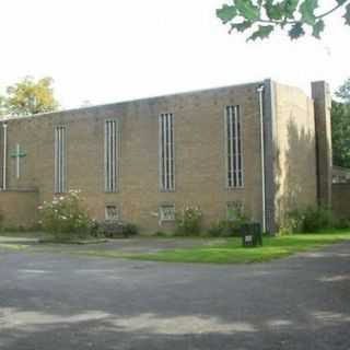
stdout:
[[60,197],[55,196],[51,202],[44,202],[38,209],[39,224],[56,238],[86,236],[93,226],[93,221],[82,206],[79,190],[70,190]]

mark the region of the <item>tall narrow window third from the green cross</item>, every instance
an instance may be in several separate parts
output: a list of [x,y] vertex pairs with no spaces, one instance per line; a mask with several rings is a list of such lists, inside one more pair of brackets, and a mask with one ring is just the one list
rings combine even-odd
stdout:
[[174,115],[160,115],[160,187],[163,191],[175,190]]

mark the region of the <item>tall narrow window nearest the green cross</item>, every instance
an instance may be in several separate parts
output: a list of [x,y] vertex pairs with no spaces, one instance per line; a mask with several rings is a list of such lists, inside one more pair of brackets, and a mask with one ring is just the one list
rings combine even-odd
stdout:
[[67,147],[66,147],[66,127],[55,128],[55,192],[62,194],[67,191]]

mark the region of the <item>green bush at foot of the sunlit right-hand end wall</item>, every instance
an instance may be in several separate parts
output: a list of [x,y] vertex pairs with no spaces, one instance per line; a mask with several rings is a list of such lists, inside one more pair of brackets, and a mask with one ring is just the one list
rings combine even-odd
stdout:
[[335,217],[329,209],[307,207],[304,210],[289,212],[281,233],[308,233],[336,226]]

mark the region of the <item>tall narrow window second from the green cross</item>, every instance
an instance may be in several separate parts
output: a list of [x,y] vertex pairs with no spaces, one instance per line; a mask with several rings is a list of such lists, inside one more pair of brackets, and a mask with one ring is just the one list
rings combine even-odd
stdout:
[[117,191],[118,121],[105,122],[105,191]]

